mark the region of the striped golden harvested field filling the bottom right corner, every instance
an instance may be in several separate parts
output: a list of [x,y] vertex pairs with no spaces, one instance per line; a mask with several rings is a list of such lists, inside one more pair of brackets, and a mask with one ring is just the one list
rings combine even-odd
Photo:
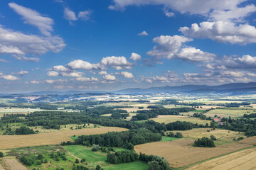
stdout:
[[196,164],[188,170],[206,170],[206,169],[256,169],[256,148],[245,149],[239,152],[211,159],[201,164]]

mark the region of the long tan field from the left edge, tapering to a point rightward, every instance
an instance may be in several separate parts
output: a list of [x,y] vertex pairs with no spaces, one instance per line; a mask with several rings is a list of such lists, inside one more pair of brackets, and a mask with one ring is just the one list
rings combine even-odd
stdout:
[[17,147],[32,147],[39,145],[57,145],[63,141],[71,141],[69,136],[73,135],[95,135],[113,131],[124,131],[127,129],[117,127],[101,127],[82,130],[63,130],[59,132],[41,133],[33,135],[1,135],[0,149]]

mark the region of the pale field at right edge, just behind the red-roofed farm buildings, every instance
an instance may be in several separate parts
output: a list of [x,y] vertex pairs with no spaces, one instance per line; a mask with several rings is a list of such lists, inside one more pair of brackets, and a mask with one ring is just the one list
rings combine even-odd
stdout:
[[253,109],[233,109],[233,108],[227,108],[227,109],[213,109],[211,111],[208,111],[205,113],[205,115],[208,117],[214,117],[214,115],[218,115],[220,117],[231,117],[231,118],[236,118],[236,117],[242,117],[244,114],[250,114],[250,113],[255,113]]

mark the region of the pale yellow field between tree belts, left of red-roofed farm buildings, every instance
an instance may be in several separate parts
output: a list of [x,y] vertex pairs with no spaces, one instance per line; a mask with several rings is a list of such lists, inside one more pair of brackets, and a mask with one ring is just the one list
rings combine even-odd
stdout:
[[176,121],[186,121],[190,123],[198,123],[202,125],[206,125],[208,123],[210,125],[210,120],[201,120],[199,118],[191,118],[188,116],[182,116],[182,115],[159,115],[158,118],[151,118],[150,120],[154,120],[158,123],[173,123]]

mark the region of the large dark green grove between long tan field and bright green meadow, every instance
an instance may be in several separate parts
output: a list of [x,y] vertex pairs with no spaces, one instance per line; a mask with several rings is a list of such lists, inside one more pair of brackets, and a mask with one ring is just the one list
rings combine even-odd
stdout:
[[[100,145],[101,147],[123,147],[133,149],[134,145],[161,140],[159,133],[138,129],[124,132],[108,132],[100,135],[82,135],[75,140],[75,145]],[[68,142],[67,142],[68,144]]]

